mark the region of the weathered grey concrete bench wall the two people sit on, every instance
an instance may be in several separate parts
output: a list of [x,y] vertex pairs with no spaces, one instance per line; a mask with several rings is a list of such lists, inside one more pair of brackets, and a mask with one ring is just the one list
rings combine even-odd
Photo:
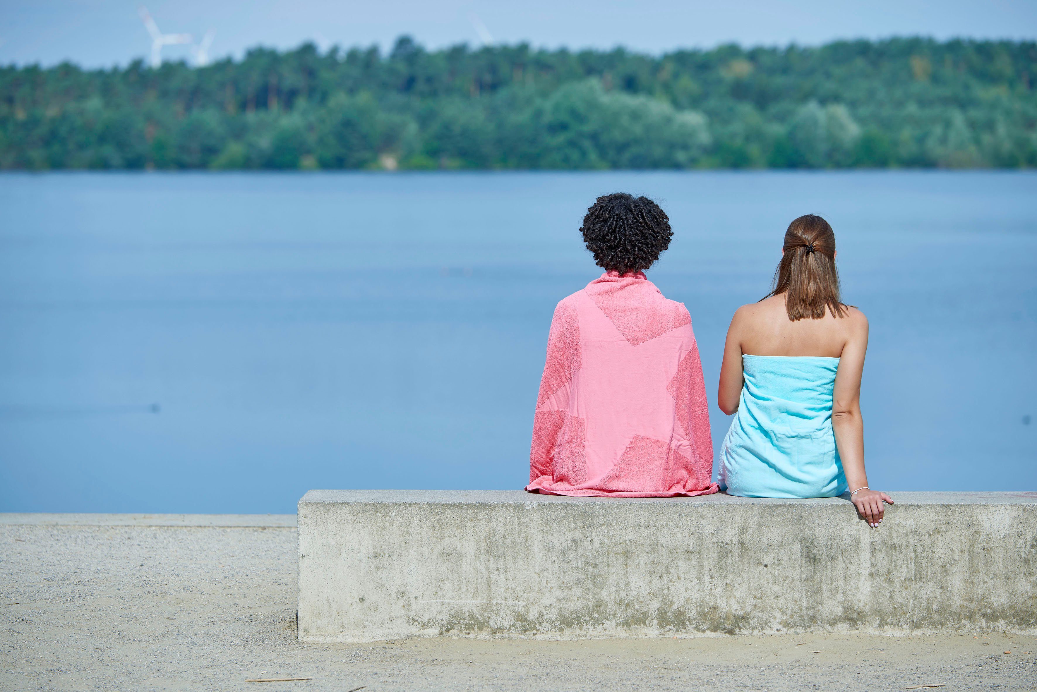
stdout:
[[1037,632],[1037,493],[310,491],[299,635]]

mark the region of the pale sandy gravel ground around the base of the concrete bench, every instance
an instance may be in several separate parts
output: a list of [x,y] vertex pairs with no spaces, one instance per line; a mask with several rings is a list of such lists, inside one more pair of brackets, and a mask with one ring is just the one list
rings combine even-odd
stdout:
[[290,527],[0,523],[2,690],[1037,690],[1031,636],[318,645],[295,613]]

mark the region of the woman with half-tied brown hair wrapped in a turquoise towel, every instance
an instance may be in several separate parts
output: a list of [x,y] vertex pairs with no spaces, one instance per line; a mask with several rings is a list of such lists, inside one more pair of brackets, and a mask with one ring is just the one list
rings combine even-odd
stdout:
[[842,302],[836,236],[800,217],[785,232],[774,290],[735,312],[721,368],[721,409],[734,414],[720,486],[747,497],[835,497],[847,491],[872,527],[889,495],[864,470],[861,373],[868,320]]

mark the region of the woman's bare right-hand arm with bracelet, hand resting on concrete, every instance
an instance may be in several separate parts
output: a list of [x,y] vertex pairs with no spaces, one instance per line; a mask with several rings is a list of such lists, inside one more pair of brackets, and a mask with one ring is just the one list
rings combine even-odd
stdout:
[[839,371],[832,402],[832,430],[842,459],[846,483],[852,492],[850,501],[861,518],[872,527],[882,520],[882,502],[893,504],[884,492],[868,488],[868,474],[864,470],[864,421],[861,417],[861,376],[864,374],[864,355],[868,350],[868,318],[850,308],[845,318],[850,320],[850,334],[839,358]]

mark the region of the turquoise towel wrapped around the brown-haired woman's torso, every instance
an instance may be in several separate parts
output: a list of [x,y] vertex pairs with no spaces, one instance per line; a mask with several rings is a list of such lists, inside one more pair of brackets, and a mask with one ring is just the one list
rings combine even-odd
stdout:
[[832,431],[839,358],[742,355],[746,383],[724,438],[720,487],[744,497],[846,492]]

